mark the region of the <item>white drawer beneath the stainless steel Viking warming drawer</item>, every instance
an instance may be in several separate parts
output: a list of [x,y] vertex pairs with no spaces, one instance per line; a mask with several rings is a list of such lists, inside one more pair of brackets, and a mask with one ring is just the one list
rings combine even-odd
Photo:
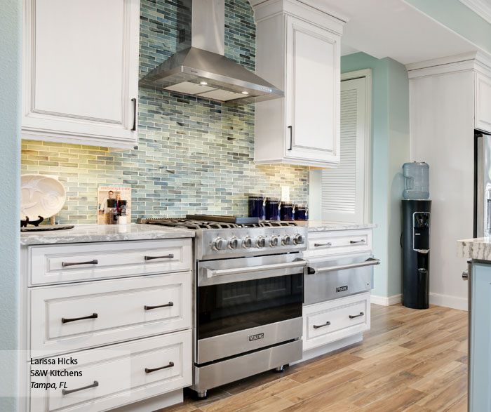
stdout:
[[347,338],[370,329],[370,293],[304,306],[303,316],[304,350]]

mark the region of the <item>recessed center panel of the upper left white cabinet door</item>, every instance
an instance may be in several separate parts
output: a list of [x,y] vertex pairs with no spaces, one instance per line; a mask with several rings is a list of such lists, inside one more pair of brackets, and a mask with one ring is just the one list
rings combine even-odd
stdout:
[[32,111],[121,124],[124,9],[85,2],[36,0]]

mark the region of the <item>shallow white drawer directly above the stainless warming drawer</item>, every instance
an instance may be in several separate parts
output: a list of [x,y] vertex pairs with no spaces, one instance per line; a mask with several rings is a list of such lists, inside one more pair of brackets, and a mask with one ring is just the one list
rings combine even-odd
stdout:
[[358,253],[372,250],[371,230],[310,232],[306,257]]

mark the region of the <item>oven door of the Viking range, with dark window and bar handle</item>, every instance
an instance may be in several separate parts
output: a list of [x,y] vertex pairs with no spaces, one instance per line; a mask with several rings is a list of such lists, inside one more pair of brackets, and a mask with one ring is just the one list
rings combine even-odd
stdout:
[[300,338],[304,268],[299,253],[200,262],[196,363]]

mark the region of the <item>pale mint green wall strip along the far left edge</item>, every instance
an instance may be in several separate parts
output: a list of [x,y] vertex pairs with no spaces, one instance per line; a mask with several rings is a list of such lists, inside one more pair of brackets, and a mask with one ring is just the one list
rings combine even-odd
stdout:
[[[0,2],[0,393],[14,394],[18,362],[20,69],[22,1]],[[12,351],[12,352],[3,352]],[[17,410],[15,397],[0,397],[0,411]]]

